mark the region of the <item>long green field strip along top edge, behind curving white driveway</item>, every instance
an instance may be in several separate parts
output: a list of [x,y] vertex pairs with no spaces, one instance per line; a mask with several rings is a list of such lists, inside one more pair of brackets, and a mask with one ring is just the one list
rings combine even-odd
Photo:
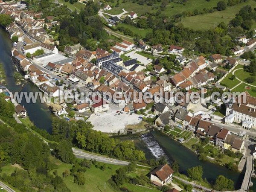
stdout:
[[[202,3],[202,1],[204,3]],[[122,9],[128,12],[136,12],[137,15],[144,15],[145,13],[156,13],[157,11],[163,12],[164,15],[171,17],[177,13],[181,13],[184,11],[191,11],[194,12],[195,9],[202,10],[204,8],[213,8],[217,5],[218,1],[206,1],[206,0],[189,0],[186,1],[184,4],[168,2],[166,9],[163,11],[160,8],[161,3],[156,3],[153,6],[148,6],[146,3],[144,5],[139,5],[138,3],[132,3],[132,1],[119,1],[119,6],[116,6],[116,1],[114,3],[110,3],[112,9],[110,11],[106,11],[109,14],[120,14],[122,13]]]

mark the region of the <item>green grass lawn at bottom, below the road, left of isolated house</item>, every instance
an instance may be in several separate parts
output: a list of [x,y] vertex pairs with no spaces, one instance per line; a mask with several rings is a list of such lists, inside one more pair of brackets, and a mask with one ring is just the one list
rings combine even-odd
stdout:
[[[59,160],[55,160],[55,164],[58,165],[58,168],[54,169],[53,171],[57,170],[58,175],[61,177],[62,177],[62,173],[65,170],[70,170],[73,166],[72,164],[63,163]],[[99,163],[99,164],[103,165],[104,163]],[[64,183],[73,192],[79,192],[79,191],[102,192],[104,191],[105,183],[111,178],[111,175],[115,174],[116,169],[119,169],[121,166],[106,164],[106,167],[107,169],[105,171],[102,171],[101,169],[96,168],[94,165],[92,165],[90,169],[87,169],[86,172],[84,173],[86,178],[84,185],[78,185],[74,183],[73,182],[74,177],[72,176],[65,177]],[[108,167],[110,167],[111,169],[109,169]],[[113,191],[111,189],[111,186],[108,184],[108,182],[106,184],[106,190],[110,192]]]

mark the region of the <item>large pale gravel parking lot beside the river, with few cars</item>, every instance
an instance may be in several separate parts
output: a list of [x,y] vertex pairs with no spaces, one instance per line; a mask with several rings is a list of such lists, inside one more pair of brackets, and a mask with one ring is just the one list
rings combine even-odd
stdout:
[[94,125],[93,129],[102,131],[103,133],[117,133],[118,131],[123,133],[126,125],[140,123],[140,120],[138,120],[140,115],[135,113],[130,115],[131,113],[127,114],[125,112],[120,114],[116,113],[116,108],[111,108],[112,105],[110,105],[110,110],[108,112],[99,113],[99,116],[96,116],[95,114],[90,116],[88,121]]

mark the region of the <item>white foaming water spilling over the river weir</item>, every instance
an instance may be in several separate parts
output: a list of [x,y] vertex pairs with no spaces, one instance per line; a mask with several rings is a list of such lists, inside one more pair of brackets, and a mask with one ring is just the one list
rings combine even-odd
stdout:
[[167,155],[163,151],[163,149],[158,144],[157,140],[154,138],[154,136],[151,133],[144,134],[141,136],[141,139],[146,143],[148,149],[151,151],[151,153],[158,159],[161,156],[165,156],[168,160]]

